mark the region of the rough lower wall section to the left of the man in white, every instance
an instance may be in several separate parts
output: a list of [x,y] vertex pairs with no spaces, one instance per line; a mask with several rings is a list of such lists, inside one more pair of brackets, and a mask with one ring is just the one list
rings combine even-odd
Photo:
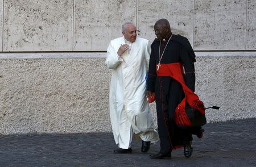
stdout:
[[110,131],[102,59],[6,59],[0,76],[0,134]]

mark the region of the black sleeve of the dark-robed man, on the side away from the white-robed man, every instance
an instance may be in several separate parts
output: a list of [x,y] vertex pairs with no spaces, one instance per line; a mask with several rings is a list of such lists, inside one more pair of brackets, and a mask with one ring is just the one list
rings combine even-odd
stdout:
[[193,60],[191,60],[191,57],[189,57],[189,53],[187,48],[181,47],[180,49],[180,59],[183,63],[184,70],[185,70],[185,82],[186,85],[191,89],[192,91],[195,91],[195,66],[193,63]]

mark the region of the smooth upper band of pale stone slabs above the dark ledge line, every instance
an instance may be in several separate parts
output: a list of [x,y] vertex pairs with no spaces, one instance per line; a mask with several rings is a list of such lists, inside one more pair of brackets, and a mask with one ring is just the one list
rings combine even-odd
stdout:
[[136,23],[152,41],[154,23],[167,18],[197,51],[255,50],[255,11],[253,0],[2,0],[0,49],[105,51],[122,23]]

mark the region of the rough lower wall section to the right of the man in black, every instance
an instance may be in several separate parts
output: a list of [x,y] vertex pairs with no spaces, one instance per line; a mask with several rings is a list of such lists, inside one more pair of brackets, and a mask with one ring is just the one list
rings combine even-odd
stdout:
[[255,57],[200,57],[196,62],[196,93],[210,122],[256,117]]

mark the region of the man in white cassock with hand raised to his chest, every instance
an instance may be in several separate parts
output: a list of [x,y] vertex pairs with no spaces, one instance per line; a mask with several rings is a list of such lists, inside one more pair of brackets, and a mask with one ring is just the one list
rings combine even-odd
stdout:
[[142,152],[158,141],[146,98],[146,74],[150,59],[148,40],[137,37],[133,23],[122,25],[122,37],[110,41],[105,64],[113,69],[110,91],[110,120],[115,143],[114,153],[131,153],[133,134],[142,139]]

